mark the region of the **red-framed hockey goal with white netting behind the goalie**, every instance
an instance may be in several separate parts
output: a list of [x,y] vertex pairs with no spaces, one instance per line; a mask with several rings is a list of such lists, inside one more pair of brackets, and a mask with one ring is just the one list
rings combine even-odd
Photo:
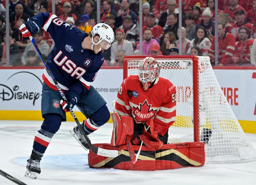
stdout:
[[[138,75],[147,56],[126,56],[123,78]],[[176,87],[176,120],[169,128],[169,143],[204,142],[206,161],[237,162],[256,159],[215,77],[209,57],[153,56],[161,66],[160,77]],[[161,91],[161,89],[159,89]]]

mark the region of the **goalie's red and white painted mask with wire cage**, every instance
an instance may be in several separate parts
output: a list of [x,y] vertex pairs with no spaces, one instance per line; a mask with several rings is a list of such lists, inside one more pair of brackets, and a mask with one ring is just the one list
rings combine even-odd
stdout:
[[143,90],[148,91],[148,88],[154,80],[160,75],[160,65],[153,57],[144,58],[138,68],[139,80],[142,83]]

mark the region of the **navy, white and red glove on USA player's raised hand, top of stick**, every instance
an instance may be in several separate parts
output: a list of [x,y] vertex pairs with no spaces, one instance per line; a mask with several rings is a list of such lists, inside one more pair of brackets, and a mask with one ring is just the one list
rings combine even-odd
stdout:
[[33,36],[40,28],[42,28],[42,23],[38,19],[30,17],[27,22],[20,26],[19,30],[22,32],[22,36],[26,38]]

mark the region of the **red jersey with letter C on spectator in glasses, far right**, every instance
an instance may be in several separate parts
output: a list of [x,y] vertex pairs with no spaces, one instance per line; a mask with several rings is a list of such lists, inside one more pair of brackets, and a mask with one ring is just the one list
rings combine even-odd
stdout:
[[252,49],[253,39],[248,39],[245,43],[242,41],[237,42],[234,58],[239,58],[240,62],[250,62],[251,61],[251,49]]

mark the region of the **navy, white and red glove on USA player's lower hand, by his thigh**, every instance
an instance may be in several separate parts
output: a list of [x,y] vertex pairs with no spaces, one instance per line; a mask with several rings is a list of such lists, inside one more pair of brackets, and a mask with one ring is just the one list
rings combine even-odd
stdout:
[[65,96],[67,101],[64,99],[60,100],[60,105],[65,112],[69,112],[69,110],[73,109],[78,102],[79,96],[72,91],[66,91]]

